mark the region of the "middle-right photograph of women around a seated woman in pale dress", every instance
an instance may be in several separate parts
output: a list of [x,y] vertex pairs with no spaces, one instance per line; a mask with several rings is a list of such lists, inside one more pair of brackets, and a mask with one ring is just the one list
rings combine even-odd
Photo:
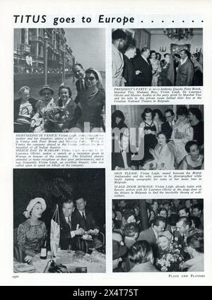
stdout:
[[204,105],[113,105],[112,170],[204,169]]

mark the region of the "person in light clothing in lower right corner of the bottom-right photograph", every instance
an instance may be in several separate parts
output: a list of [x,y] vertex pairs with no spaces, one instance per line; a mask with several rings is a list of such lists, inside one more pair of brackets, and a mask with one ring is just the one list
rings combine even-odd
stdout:
[[187,260],[182,269],[187,272],[204,272],[204,232],[194,230],[187,237],[187,252],[191,259]]

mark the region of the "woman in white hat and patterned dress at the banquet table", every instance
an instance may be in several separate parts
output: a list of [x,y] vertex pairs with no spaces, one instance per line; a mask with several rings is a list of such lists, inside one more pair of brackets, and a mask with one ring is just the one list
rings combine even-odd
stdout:
[[27,220],[18,226],[18,244],[21,246],[25,255],[24,260],[27,262],[30,262],[33,256],[40,252],[45,240],[47,229],[45,222],[39,219],[46,208],[47,205],[43,198],[30,200],[25,212],[23,212]]

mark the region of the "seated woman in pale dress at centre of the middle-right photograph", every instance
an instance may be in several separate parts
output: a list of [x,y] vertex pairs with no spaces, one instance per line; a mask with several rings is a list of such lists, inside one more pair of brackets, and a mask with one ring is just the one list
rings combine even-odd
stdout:
[[150,149],[150,152],[154,157],[153,162],[150,162],[155,166],[154,169],[174,169],[175,157],[167,145],[167,136],[165,136],[165,133],[158,133],[158,144],[154,149]]

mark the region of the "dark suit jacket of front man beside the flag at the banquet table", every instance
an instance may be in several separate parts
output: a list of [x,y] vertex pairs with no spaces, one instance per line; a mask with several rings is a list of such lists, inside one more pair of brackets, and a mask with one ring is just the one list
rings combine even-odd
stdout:
[[71,245],[71,250],[76,250],[76,242],[75,238],[71,238],[71,231],[73,229],[73,218],[71,215],[71,229],[69,224],[66,222],[66,218],[64,214],[61,212],[59,214],[59,226],[60,226],[60,238],[59,238],[59,245],[61,250],[67,250],[69,245]]

